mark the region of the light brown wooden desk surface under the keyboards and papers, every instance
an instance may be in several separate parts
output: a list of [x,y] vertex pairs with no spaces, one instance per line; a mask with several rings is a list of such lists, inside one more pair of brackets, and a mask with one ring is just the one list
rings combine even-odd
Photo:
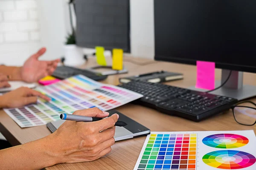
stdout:
[[[148,59],[125,58],[125,61],[148,62]],[[152,62],[152,61],[151,61]],[[124,62],[129,74],[113,75],[102,81],[104,83],[118,85],[119,77],[127,77],[152,71],[173,71],[184,74],[183,80],[168,82],[169,85],[187,88],[195,85],[196,67],[193,65],[182,65],[170,62],[155,62],[154,64],[138,66],[131,62]],[[95,59],[82,68],[96,65]],[[216,79],[220,79],[221,71],[217,69]],[[245,73],[244,83],[256,85],[256,74]],[[250,99],[256,102],[256,98]],[[137,122],[150,128],[151,131],[199,131],[199,130],[254,130],[256,126],[239,125],[233,118],[232,111],[227,111],[218,116],[211,117],[202,122],[192,122],[175,116],[169,116],[150,108],[140,105],[127,104],[116,110],[129,116]],[[38,127],[20,128],[4,111],[0,111],[0,131],[10,141],[12,145],[24,144],[36,139],[40,139],[50,134],[45,125]],[[70,139],[71,140],[71,139]],[[57,164],[47,167],[47,170],[131,170],[137,161],[145,137],[128,139],[116,142],[112,147],[112,152],[107,156],[92,162],[76,164]]]

